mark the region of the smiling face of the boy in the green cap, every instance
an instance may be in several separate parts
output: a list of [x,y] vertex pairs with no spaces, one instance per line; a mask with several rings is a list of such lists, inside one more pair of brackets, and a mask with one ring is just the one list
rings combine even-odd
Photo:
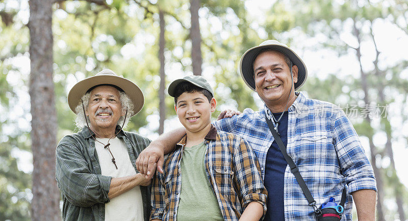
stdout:
[[209,102],[205,95],[193,92],[181,94],[174,109],[186,131],[195,133],[210,128],[211,113],[215,111],[215,106],[214,98]]

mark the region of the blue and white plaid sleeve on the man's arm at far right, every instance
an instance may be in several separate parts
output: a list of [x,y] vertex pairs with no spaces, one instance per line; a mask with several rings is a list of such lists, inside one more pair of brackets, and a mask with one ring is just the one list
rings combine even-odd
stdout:
[[348,192],[360,189],[377,191],[373,168],[368,160],[358,134],[340,110],[334,123],[333,139]]

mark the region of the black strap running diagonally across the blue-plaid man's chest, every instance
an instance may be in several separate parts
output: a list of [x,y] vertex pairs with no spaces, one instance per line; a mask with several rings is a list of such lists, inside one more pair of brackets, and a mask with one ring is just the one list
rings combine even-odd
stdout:
[[265,119],[266,119],[266,123],[268,123],[268,127],[269,130],[271,131],[277,146],[279,146],[279,149],[281,149],[282,154],[285,157],[286,162],[288,162],[289,167],[290,167],[290,171],[292,172],[292,174],[295,176],[297,182],[300,185],[300,188],[302,188],[303,194],[306,197],[306,199],[309,202],[309,205],[315,205],[316,201],[313,199],[312,194],[310,193],[310,190],[308,188],[308,186],[306,185],[306,183],[304,182],[302,176],[299,173],[299,169],[296,167],[296,164],[293,162],[293,159],[288,155],[288,153],[286,152],[286,147],[284,145],[284,143],[282,142],[281,137],[277,134],[277,131],[273,128],[272,125],[272,121],[270,119],[268,119],[265,115]]

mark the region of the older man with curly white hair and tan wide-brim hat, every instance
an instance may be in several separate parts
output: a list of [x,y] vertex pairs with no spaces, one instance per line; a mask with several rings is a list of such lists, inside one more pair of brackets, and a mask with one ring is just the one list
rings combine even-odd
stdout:
[[56,150],[56,179],[64,220],[148,220],[150,180],[135,161],[150,140],[123,131],[143,107],[132,81],[103,70],[81,80],[68,94],[80,132]]

